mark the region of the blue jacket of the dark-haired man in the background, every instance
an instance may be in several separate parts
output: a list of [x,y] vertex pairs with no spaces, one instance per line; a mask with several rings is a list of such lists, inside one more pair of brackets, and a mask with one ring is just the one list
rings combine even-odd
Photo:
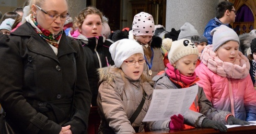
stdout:
[[[205,26],[204,28],[204,36],[208,39],[208,44],[213,44],[213,36],[211,35],[211,31],[222,25],[223,23],[217,19],[216,17],[211,19]],[[231,28],[231,26],[229,24],[225,24],[227,25],[229,28]]]

